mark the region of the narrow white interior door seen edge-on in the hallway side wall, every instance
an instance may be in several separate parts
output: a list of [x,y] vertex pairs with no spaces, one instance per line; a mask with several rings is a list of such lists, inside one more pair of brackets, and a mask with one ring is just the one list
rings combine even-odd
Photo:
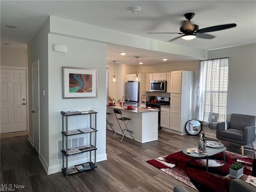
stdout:
[[[32,126],[34,148],[40,154],[39,141],[39,60],[32,62]],[[45,93],[44,93],[45,94]]]

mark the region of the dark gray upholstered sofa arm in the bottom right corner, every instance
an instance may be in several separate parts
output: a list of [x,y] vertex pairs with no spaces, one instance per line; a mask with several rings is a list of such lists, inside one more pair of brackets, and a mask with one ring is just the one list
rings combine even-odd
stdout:
[[232,179],[230,182],[230,192],[255,192],[255,189],[250,186],[251,184],[248,184],[244,182],[241,179]]

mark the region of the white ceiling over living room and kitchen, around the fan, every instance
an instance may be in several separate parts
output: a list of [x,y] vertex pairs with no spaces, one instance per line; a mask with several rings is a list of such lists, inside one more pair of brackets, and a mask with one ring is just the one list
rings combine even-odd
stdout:
[[[180,32],[184,14],[194,12],[192,23],[200,28],[236,23],[235,28],[209,32],[214,39],[195,38],[186,41],[179,38],[170,43],[182,46],[212,50],[231,46],[256,43],[256,1],[136,1],[136,0],[80,0],[80,1],[0,1],[1,4],[1,46],[26,48],[49,15],[70,19],[102,28],[152,38],[167,42],[179,34],[147,34],[147,32]],[[133,6],[140,6],[141,12],[132,12]],[[6,28],[5,24],[17,26]],[[145,65],[197,60],[162,52],[141,50],[120,45],[108,45],[107,61],[136,64],[135,56]],[[126,52],[121,56],[119,52]]]

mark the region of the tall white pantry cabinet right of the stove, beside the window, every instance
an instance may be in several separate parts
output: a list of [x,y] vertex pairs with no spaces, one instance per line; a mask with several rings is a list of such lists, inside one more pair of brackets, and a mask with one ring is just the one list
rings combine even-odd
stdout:
[[171,75],[170,130],[183,135],[186,122],[192,119],[194,72],[174,71]]

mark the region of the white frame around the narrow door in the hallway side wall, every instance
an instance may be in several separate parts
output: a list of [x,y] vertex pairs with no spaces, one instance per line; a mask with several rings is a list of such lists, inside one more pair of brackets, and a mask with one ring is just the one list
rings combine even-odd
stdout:
[[35,128],[34,128],[34,119],[33,119],[33,114],[32,114],[32,128],[33,128],[33,147],[36,149],[36,152],[38,152],[38,156],[40,157],[40,78],[39,78],[39,60],[35,60],[34,62],[32,62],[31,64],[31,80],[32,80],[32,110],[34,110],[34,77],[33,77],[33,67],[37,65],[37,70],[38,70],[38,149],[35,148]]

